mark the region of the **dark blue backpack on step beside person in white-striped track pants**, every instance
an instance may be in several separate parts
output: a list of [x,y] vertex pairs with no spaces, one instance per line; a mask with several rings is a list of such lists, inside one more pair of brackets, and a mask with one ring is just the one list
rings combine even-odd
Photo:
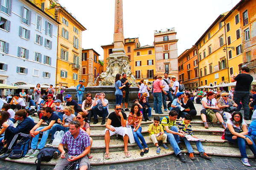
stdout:
[[9,158],[22,158],[30,149],[32,137],[23,137],[15,144]]

